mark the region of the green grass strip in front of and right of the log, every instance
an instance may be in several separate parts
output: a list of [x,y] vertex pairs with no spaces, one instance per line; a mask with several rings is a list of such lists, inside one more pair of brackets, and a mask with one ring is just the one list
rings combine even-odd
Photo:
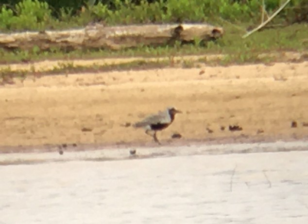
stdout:
[[130,48],[122,50],[84,49],[65,51],[52,48],[49,51],[33,50],[9,51],[0,49],[0,64],[29,63],[42,60],[74,60],[97,58],[123,57],[169,57],[181,55],[203,54],[258,54],[273,51],[300,51],[308,50],[308,24],[293,24],[286,27],[264,29],[242,39],[247,25],[233,26],[224,24],[224,36],[215,42],[201,44],[176,43],[174,46]]

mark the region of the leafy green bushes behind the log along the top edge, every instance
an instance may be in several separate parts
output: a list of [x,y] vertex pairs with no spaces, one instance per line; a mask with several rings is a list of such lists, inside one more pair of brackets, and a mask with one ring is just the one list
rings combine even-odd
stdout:
[[[109,25],[148,22],[257,22],[261,0],[2,0],[0,31],[63,29],[92,21]],[[283,1],[265,0],[271,14]],[[307,0],[291,0],[276,20],[308,21]]]

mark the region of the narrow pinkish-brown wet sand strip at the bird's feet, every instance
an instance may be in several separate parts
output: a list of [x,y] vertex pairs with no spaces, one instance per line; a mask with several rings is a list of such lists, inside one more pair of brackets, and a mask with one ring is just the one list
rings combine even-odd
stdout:
[[[306,138],[294,138],[294,137],[270,137],[270,136],[234,136],[234,137],[221,137],[221,138],[207,138],[204,140],[200,139],[176,139],[176,140],[167,140],[158,145],[154,143],[151,138],[148,142],[132,142],[125,144],[67,144],[66,148],[61,147],[64,152],[82,152],[82,151],[97,151],[97,150],[117,150],[117,149],[159,149],[164,147],[189,147],[191,145],[224,145],[224,144],[267,144],[267,143],[276,143],[276,142],[306,142]],[[66,144],[66,143],[63,143]],[[0,145],[0,155],[1,154],[12,154],[12,153],[50,153],[50,152],[59,152],[60,144],[43,144],[43,145]],[[308,145],[308,144],[307,144]],[[308,147],[308,146],[307,146]]]

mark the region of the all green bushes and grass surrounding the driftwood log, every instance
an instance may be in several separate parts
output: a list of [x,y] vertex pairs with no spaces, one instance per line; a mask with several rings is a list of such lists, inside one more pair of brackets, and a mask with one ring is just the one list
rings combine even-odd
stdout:
[[[124,50],[7,50],[0,48],[0,63],[33,62],[46,59],[94,59],[110,57],[161,57],[227,54],[231,62],[252,60],[264,52],[308,50],[308,1],[291,3],[269,26],[246,39],[247,28],[260,23],[262,0],[4,0],[0,5],[0,32],[81,27],[91,21],[108,25],[165,23],[176,21],[209,22],[222,26],[225,33],[205,46],[198,43]],[[272,14],[284,0],[265,0]],[[302,22],[302,23],[294,23]],[[275,25],[275,26],[274,26]],[[243,56],[246,55],[246,56]],[[248,55],[248,56],[247,56]],[[190,66],[189,64],[187,66]]]

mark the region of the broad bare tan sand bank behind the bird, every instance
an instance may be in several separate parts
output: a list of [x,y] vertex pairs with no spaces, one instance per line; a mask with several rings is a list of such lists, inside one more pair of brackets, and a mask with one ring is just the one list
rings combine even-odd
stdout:
[[[125,124],[167,106],[184,113],[158,134],[163,143],[302,139],[307,98],[308,62],[29,78],[0,86],[0,146],[152,143],[142,129]],[[182,140],[171,140],[175,132]]]

